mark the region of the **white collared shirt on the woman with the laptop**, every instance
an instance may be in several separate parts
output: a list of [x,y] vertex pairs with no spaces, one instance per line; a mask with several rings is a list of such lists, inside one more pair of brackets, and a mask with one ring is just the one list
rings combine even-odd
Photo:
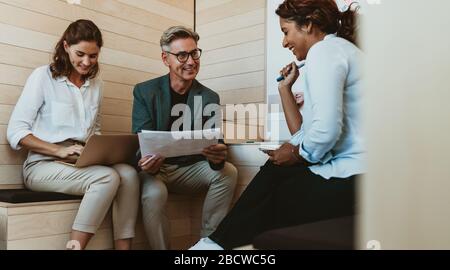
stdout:
[[67,139],[86,141],[100,132],[100,102],[103,83],[87,80],[80,88],[67,77],[52,78],[48,65],[28,77],[8,124],[11,147],[20,149],[25,136],[57,143]]

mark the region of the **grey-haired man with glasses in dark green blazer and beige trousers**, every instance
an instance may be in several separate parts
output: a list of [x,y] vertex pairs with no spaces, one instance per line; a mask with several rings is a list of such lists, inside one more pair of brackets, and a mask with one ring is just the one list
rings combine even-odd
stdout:
[[[161,36],[161,58],[169,68],[167,75],[139,83],[133,95],[133,133],[142,130],[194,130],[208,120],[221,119],[221,115],[203,116],[206,106],[219,106],[219,95],[203,86],[195,78],[200,69],[202,50],[197,47],[199,35],[183,26],[170,27]],[[201,108],[194,99],[201,100]],[[184,106],[192,112],[191,126],[177,126],[178,114],[172,109]],[[220,114],[220,113],[219,113]],[[187,115],[190,115],[188,113]],[[217,118],[218,117],[218,118]],[[216,121],[218,122],[218,121]],[[183,123],[186,123],[183,121]],[[183,194],[205,193],[202,211],[201,237],[212,233],[227,214],[237,181],[236,168],[226,162],[227,146],[216,144],[203,149],[201,155],[173,158],[162,156],[141,157],[137,162],[142,180],[142,217],[152,249],[169,249],[169,221],[166,215],[168,192]]]

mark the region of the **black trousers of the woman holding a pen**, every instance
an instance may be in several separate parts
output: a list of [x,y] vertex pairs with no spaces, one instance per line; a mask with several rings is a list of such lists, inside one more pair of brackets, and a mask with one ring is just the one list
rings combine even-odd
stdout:
[[355,178],[327,180],[305,165],[268,161],[209,238],[232,249],[267,230],[353,215]]

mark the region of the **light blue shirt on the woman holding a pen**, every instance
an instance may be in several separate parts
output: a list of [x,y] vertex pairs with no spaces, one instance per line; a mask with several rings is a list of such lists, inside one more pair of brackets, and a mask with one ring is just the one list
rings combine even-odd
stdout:
[[290,143],[310,170],[326,179],[347,178],[365,170],[361,131],[362,56],[351,42],[327,35],[308,52],[303,68],[303,124]]

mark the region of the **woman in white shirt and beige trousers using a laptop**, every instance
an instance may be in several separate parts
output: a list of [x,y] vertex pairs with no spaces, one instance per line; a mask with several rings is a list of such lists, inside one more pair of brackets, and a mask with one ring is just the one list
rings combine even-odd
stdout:
[[89,20],[69,25],[55,47],[53,62],[33,71],[8,125],[12,148],[29,150],[25,186],[34,191],[84,195],[72,226],[71,243],[84,249],[112,204],[116,249],[129,249],[135,235],[139,179],[133,167],[75,168],[87,138],[100,132],[103,83],[98,57],[103,45]]

